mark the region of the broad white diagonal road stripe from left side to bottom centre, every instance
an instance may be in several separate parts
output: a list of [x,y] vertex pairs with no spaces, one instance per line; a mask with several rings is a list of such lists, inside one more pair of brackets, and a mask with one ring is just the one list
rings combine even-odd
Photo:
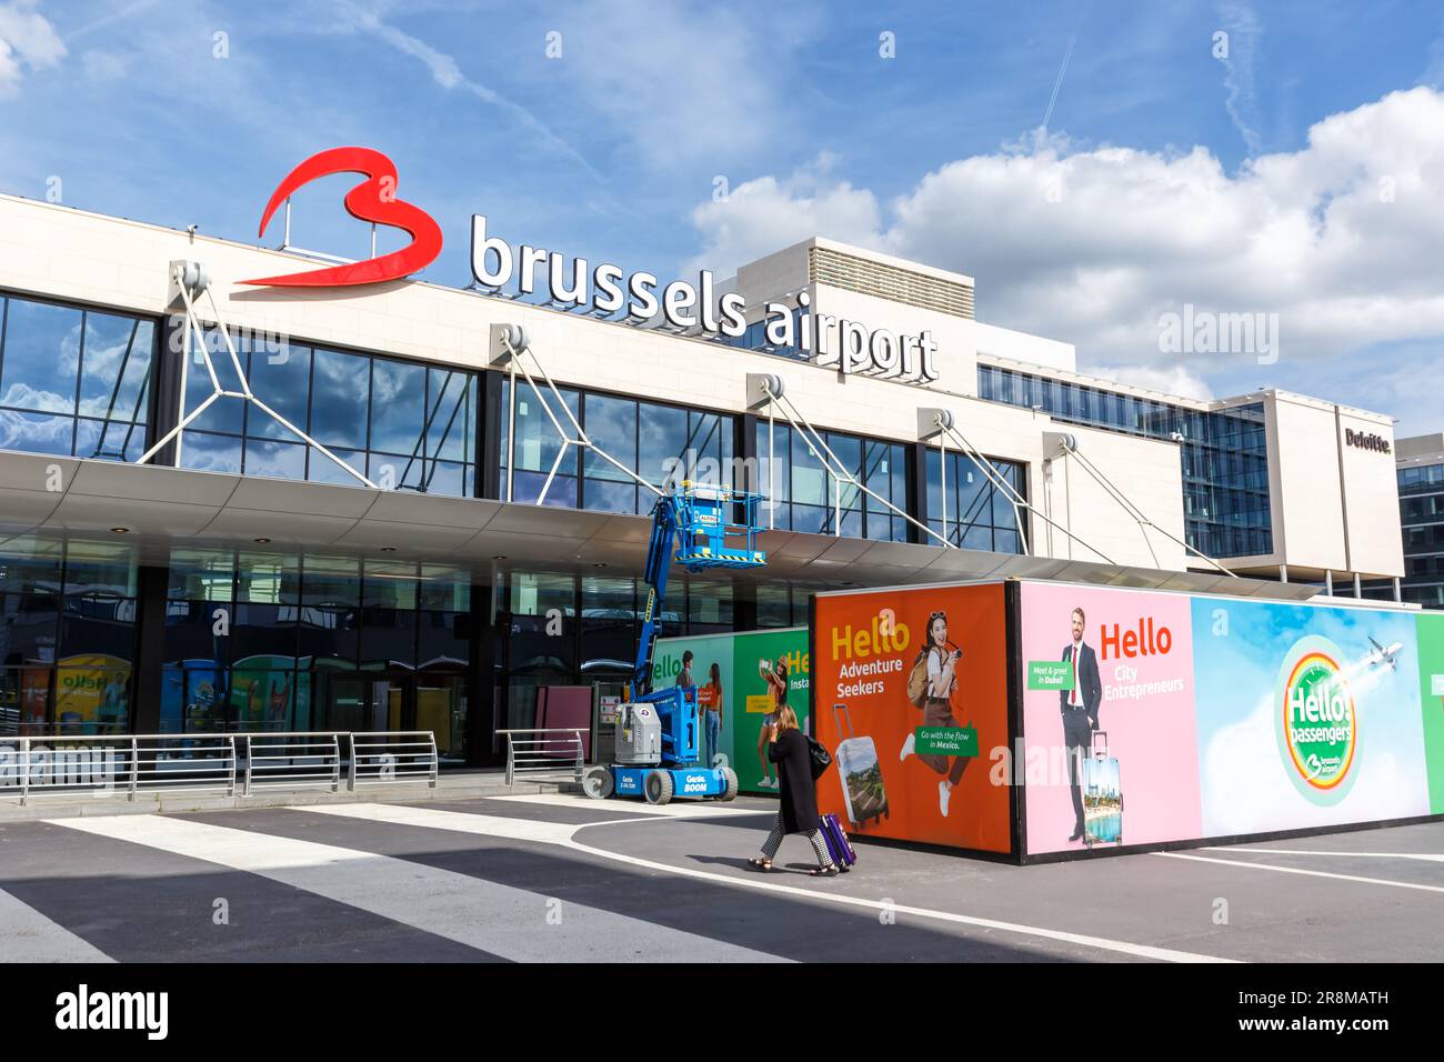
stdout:
[[[258,874],[518,962],[786,961],[609,910],[570,902],[557,906],[542,893],[423,863],[315,841],[159,815],[55,819],[53,825]],[[503,837],[521,839],[513,821],[494,819],[491,825],[507,829]]]

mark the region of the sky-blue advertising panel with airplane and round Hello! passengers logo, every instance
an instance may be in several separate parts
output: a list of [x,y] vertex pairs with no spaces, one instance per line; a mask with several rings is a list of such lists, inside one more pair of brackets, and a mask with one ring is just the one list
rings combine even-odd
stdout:
[[1418,617],[1193,600],[1204,837],[1430,813]]

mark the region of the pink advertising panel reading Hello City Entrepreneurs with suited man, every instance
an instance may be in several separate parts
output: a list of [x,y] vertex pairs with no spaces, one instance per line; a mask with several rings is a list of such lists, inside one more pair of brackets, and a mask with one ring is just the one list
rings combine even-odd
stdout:
[[1021,587],[1027,852],[1203,835],[1183,594]]

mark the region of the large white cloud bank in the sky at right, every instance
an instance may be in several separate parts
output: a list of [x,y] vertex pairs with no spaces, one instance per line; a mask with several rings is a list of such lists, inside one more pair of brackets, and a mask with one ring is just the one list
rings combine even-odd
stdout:
[[1160,353],[1160,316],[1186,303],[1276,314],[1285,364],[1444,337],[1441,199],[1444,92],[1421,87],[1330,116],[1300,150],[1236,173],[1204,147],[1034,137],[946,163],[885,210],[829,173],[765,176],[692,220],[696,260],[722,275],[830,236],[975,276],[980,319],[1073,342],[1082,364],[1187,366],[1197,381],[1255,360]]

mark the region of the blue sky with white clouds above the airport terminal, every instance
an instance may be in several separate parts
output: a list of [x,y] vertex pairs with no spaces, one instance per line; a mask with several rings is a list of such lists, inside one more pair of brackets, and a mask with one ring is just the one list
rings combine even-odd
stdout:
[[[816,231],[975,276],[1084,368],[1444,428],[1437,4],[9,0],[0,42],[6,192],[254,240],[358,143],[442,223],[439,283],[472,212],[663,275]],[[297,198],[296,243],[362,253],[349,184]],[[1161,353],[1184,303],[1276,314],[1278,363]]]

